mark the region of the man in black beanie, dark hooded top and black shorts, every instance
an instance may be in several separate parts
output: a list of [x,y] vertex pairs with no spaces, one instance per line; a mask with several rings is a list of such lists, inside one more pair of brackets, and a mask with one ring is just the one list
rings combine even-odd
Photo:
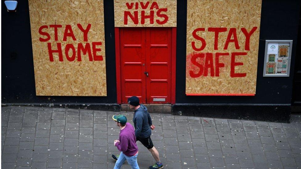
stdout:
[[[129,106],[134,110],[134,127],[135,127],[135,136],[136,140],[140,141],[147,149],[151,152],[156,163],[150,166],[150,169],[163,168],[163,164],[159,158],[159,152],[154,147],[153,142],[150,139],[151,130],[155,129],[155,126],[152,124],[150,114],[147,111],[147,108],[143,104],[139,104],[139,98],[136,96],[130,97],[128,100]],[[112,155],[112,158],[117,160],[118,157]]]

